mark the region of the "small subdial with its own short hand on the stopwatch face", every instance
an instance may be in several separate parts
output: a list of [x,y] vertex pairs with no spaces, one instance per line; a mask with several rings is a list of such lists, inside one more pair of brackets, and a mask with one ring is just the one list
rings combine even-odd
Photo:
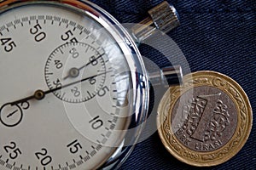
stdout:
[[53,92],[55,96],[69,103],[92,99],[105,82],[104,55],[84,42],[65,43],[55,48],[44,70],[49,89],[57,88]]

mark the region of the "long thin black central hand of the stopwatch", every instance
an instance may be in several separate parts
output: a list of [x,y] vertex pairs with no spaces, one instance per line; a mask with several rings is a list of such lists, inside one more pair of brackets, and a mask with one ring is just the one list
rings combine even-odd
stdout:
[[24,99],[18,99],[18,100],[14,101],[14,102],[11,102],[10,105],[18,105],[18,104],[23,103],[23,102],[26,102],[27,100],[30,100],[30,99],[37,99],[37,100],[44,99],[44,97],[45,97],[46,94],[50,94],[50,93],[52,93],[52,92],[55,92],[55,91],[57,91],[57,90],[60,90],[61,88],[67,88],[67,87],[72,86],[72,85],[74,85],[74,84],[77,84],[77,83],[79,83],[79,82],[84,82],[84,81],[89,80],[89,79],[91,79],[91,78],[94,78],[94,77],[98,77],[98,76],[107,74],[108,72],[110,72],[110,71],[105,71],[105,72],[99,73],[99,74],[94,75],[94,76],[85,77],[85,78],[83,78],[83,79],[81,79],[81,80],[78,80],[78,81],[75,81],[75,82],[70,82],[70,83],[65,84],[65,85],[63,85],[63,86],[61,86],[61,87],[52,88],[52,89],[49,89],[49,90],[46,90],[46,91],[43,91],[43,90],[38,89],[38,90],[36,90],[35,93],[32,94],[31,96],[28,96],[28,97],[26,97],[26,98],[24,98]]

